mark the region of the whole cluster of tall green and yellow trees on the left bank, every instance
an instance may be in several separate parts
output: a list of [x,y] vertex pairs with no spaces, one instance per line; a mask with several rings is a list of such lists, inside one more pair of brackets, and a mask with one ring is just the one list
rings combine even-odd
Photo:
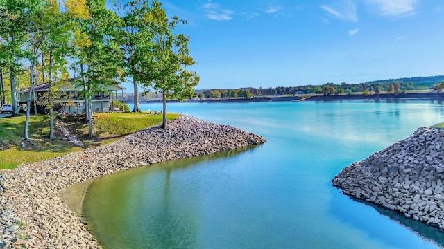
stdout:
[[[12,115],[19,112],[17,89],[29,88],[31,96],[34,86],[48,83],[49,93],[41,104],[51,116],[52,139],[58,82],[71,78],[83,86],[92,137],[91,97],[103,86],[131,79],[135,92],[142,86],[162,93],[164,103],[167,98],[194,95],[199,77],[185,70],[195,64],[187,48],[189,36],[176,33],[187,21],[167,17],[158,1],[112,3],[110,7],[105,0],[0,0],[0,102],[12,103]],[[138,95],[134,96],[137,103]],[[133,111],[140,111],[138,104]],[[29,112],[27,108],[26,124]],[[163,123],[165,127],[166,116]],[[28,140],[27,125],[24,138]]]

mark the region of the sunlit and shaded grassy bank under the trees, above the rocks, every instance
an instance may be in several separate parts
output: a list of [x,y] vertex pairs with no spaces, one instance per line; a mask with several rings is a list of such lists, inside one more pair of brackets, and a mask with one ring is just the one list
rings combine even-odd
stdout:
[[[179,114],[167,114],[167,120]],[[63,138],[56,129],[56,140],[49,140],[49,116],[31,116],[29,134],[31,142],[22,147],[25,116],[0,118],[0,169],[13,169],[22,163],[32,163],[62,156],[87,147],[96,147],[113,142],[121,136],[134,133],[145,127],[162,122],[162,115],[146,113],[96,113],[94,115],[94,138],[89,139],[84,117],[58,117],[67,129],[75,134],[84,147],[75,147]]]

